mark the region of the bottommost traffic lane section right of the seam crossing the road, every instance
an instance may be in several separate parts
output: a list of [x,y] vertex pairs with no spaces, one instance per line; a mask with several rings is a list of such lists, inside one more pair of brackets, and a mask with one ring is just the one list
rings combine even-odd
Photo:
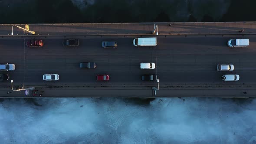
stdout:
[[[158,78],[161,85],[255,85],[255,72],[160,71],[158,72]],[[240,80],[223,81],[221,76],[225,74],[240,75]]]

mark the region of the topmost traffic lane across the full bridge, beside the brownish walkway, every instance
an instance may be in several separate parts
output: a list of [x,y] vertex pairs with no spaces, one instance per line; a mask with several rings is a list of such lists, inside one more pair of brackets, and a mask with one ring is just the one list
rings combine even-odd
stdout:
[[[109,48],[109,49],[115,49],[113,52],[117,52],[117,54],[124,54],[127,53],[135,54],[135,52],[138,54],[145,53],[148,51],[154,50],[154,46],[140,46],[136,47],[133,46],[132,41],[136,36],[132,37],[101,37],[101,36],[73,36],[71,38],[77,38],[80,39],[80,46],[74,46],[74,47],[65,47],[62,46],[63,39],[67,39],[64,37],[25,37],[25,40],[29,39],[42,39],[44,42],[44,46],[41,48],[28,48],[31,52],[37,51],[37,50],[49,50],[49,52],[52,52],[54,50],[59,51],[58,53],[66,52],[69,54],[69,52],[72,51],[78,51],[79,50],[85,50],[89,54],[94,54],[95,52],[98,52],[97,54],[100,55],[102,53],[101,43],[104,40],[113,40],[118,42],[117,48]],[[250,39],[250,46],[247,46],[245,48],[230,48],[226,45],[226,42],[228,39],[233,38],[249,38]],[[207,49],[212,52],[219,51],[219,49],[222,49],[223,47],[226,47],[227,49],[223,49],[223,51],[230,51],[230,49],[233,49],[233,52],[246,52],[249,48],[249,50],[254,49],[256,36],[254,35],[246,35],[246,36],[158,36],[158,46],[157,50],[158,52],[162,52],[162,49],[175,49],[174,54],[180,53],[181,54],[193,54],[191,52],[206,52],[209,53],[209,51],[201,51],[202,49]],[[24,47],[24,41],[23,39],[0,39],[0,46],[1,47],[8,47],[9,49],[20,49],[21,47]],[[11,44],[10,46],[8,46]],[[67,48],[67,49],[65,49]],[[119,48],[119,49],[118,49]],[[124,50],[124,51],[123,51]],[[108,49],[106,50],[108,51]],[[223,52],[219,51],[219,52]],[[124,52],[124,53],[123,53]],[[164,50],[164,52],[168,52]],[[187,53],[186,53],[187,52]],[[38,52],[41,53],[41,52]],[[56,55],[58,53],[55,53]],[[115,53],[114,53],[115,54]],[[196,53],[194,53],[196,54]],[[199,53],[200,54],[200,53]]]

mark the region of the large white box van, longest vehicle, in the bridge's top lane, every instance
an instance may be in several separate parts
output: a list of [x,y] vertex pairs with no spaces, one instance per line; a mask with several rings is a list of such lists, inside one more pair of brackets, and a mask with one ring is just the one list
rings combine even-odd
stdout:
[[134,46],[156,46],[157,38],[156,37],[145,37],[145,38],[136,38],[133,40]]

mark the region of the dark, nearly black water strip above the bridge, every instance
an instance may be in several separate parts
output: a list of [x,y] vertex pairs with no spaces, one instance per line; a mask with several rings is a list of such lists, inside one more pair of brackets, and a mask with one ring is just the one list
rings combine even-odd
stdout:
[[0,23],[256,21],[255,5],[255,0],[83,0],[79,5],[0,0]]

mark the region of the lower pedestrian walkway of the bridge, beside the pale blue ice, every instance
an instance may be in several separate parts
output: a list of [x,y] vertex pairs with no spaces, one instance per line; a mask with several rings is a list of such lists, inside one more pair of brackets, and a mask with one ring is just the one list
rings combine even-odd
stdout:
[[[152,87],[62,87],[62,88],[36,88],[36,92],[10,91],[0,89],[0,98],[40,98],[40,97],[255,97],[256,89],[252,86],[173,86],[160,87],[154,91]],[[43,90],[42,90],[43,89]],[[10,93],[8,93],[10,92]],[[41,94],[41,95],[40,95]]]

